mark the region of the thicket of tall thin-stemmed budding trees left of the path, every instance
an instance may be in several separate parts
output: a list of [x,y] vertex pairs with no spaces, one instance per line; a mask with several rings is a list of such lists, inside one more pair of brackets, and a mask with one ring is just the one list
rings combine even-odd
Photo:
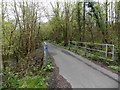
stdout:
[[[15,0],[9,5],[2,2],[2,60],[4,68],[9,62],[20,62],[35,49],[40,47],[40,22],[38,19],[38,3]],[[13,10],[9,15],[9,7]],[[19,9],[19,11],[18,11]],[[20,12],[20,13],[19,13]],[[13,60],[13,61],[11,61]],[[41,62],[42,63],[42,62]]]

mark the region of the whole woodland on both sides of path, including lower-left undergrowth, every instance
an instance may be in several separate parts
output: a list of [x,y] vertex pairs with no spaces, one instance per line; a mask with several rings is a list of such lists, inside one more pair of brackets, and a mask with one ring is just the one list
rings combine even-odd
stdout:
[[[13,0],[13,3],[8,3],[2,0],[0,44],[3,88],[47,88],[45,80],[49,77],[43,74],[53,67],[51,64],[43,65],[43,41],[64,47],[68,46],[68,41],[113,44],[114,62],[119,65],[120,1],[57,1],[49,5],[51,11],[40,2]],[[47,22],[41,21],[42,12]]]

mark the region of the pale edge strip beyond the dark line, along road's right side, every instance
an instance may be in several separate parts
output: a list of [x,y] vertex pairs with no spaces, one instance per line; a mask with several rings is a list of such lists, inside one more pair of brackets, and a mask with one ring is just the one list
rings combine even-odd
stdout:
[[[52,43],[49,43],[49,44],[52,44]],[[115,74],[115,73],[111,72],[110,70],[107,70],[106,68],[101,67],[100,65],[97,65],[94,62],[88,60],[87,58],[82,57],[82,56],[80,56],[80,55],[78,55],[78,54],[76,54],[74,52],[71,52],[71,51],[69,51],[67,49],[64,49],[62,47],[58,47],[58,46],[56,46],[54,44],[52,44],[52,45],[55,46],[57,49],[61,50],[62,52],[66,53],[66,54],[68,54],[70,56],[73,56],[77,60],[82,61],[83,63],[90,66],[91,68],[93,68],[93,69],[101,72],[102,74],[106,75],[107,77],[113,79],[114,81],[118,82],[118,85],[120,85],[120,80],[119,80],[119,75],[118,74]]]

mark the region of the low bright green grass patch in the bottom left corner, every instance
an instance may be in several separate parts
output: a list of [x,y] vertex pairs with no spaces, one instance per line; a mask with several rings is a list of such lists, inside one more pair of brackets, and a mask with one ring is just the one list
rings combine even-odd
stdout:
[[3,82],[2,88],[47,88],[47,83],[45,81],[49,79],[48,77],[40,75],[26,75],[23,78],[19,78],[18,75],[5,71],[3,74],[7,79]]

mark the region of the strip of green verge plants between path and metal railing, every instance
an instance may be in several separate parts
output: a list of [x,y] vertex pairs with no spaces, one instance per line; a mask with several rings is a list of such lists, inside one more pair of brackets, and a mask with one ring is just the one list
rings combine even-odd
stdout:
[[80,49],[78,47],[74,47],[74,46],[64,47],[61,44],[57,44],[57,42],[53,42],[53,41],[51,43],[53,43],[54,45],[60,46],[64,49],[70,50],[78,55],[83,56],[83,57],[90,58],[90,59],[95,60],[95,61],[99,61],[103,64],[108,65],[108,67],[110,67],[114,70],[120,71],[120,66],[117,65],[116,61],[109,61],[109,60],[107,60],[107,58],[99,57],[98,53],[88,54],[88,53],[84,53],[84,49]]

